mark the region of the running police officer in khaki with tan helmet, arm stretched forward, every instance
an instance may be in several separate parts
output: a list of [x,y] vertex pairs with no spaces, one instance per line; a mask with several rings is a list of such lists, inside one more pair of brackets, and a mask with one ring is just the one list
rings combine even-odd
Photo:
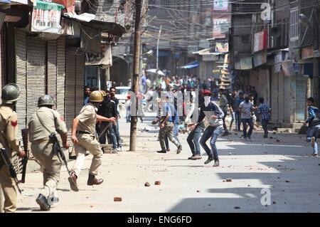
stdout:
[[98,169],[102,163],[102,149],[100,143],[95,137],[95,124],[98,121],[115,122],[114,117],[102,117],[97,115],[97,107],[103,101],[103,94],[100,91],[94,91],[90,94],[90,102],[82,107],[80,114],[73,120],[73,130],[71,139],[75,146],[77,159],[73,166],[73,171],[69,177],[70,187],[73,191],[79,191],[77,186],[77,178],[80,174],[82,165],[85,162],[85,152],[89,151],[93,155],[92,163],[89,171],[87,185],[102,184],[103,179],[97,179]]

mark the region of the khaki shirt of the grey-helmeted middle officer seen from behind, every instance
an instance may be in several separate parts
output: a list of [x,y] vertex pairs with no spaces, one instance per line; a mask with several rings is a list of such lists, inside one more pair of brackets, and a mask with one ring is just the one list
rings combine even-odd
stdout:
[[[37,116],[38,113],[38,116]],[[68,132],[67,126],[60,116],[58,111],[50,109],[48,107],[40,107],[30,119],[29,122],[29,140],[30,142],[36,141],[38,139],[49,139],[48,130],[46,127],[41,125],[41,122],[48,127],[50,132],[57,131],[59,134],[65,134]]]

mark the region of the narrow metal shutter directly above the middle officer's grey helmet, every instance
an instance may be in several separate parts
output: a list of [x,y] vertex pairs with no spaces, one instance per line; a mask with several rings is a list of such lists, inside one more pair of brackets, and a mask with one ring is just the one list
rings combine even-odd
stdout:
[[[57,41],[48,41],[47,46],[47,88],[48,95],[53,97],[55,103],[57,103]],[[55,109],[56,109],[55,105]]]

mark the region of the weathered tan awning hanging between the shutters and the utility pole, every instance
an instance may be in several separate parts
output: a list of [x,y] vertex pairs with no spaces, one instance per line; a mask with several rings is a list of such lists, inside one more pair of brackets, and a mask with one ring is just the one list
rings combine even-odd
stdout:
[[100,53],[86,53],[85,65],[112,66],[112,48],[110,45],[101,45]]

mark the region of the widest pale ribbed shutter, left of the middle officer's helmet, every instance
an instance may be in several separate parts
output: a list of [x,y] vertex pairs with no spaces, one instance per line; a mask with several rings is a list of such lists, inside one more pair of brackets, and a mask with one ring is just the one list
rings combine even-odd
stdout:
[[27,38],[27,120],[38,110],[38,97],[46,93],[46,41]]

